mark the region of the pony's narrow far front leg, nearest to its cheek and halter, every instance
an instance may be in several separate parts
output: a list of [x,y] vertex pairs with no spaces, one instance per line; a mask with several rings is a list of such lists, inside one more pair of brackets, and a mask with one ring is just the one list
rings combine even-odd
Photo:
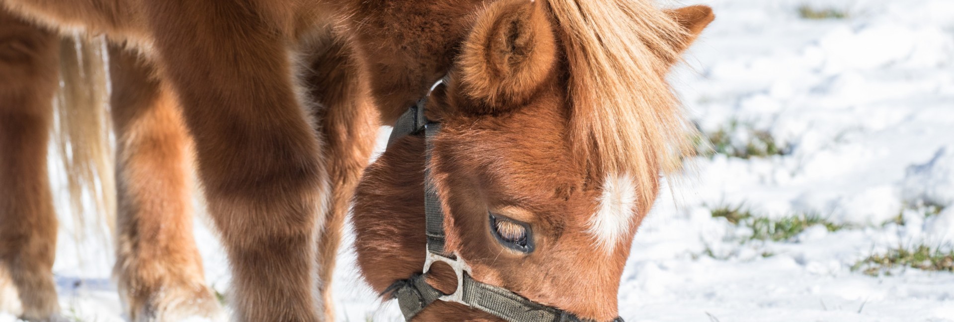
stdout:
[[331,182],[331,199],[324,213],[319,239],[319,279],[324,316],[335,317],[331,282],[344,221],[355,187],[367,166],[377,137],[378,113],[368,89],[363,63],[346,39],[332,38],[328,47],[308,57],[311,72],[306,75],[308,90],[319,103],[314,110],[324,142],[322,158]]

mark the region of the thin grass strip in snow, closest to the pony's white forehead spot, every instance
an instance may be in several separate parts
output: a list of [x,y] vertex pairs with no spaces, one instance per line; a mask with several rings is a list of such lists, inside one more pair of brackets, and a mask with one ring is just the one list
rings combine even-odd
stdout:
[[783,218],[756,217],[743,205],[721,206],[712,210],[713,218],[726,218],[730,223],[752,229],[753,240],[791,240],[812,226],[824,226],[829,232],[839,231],[845,225],[834,223],[818,215],[793,215]]

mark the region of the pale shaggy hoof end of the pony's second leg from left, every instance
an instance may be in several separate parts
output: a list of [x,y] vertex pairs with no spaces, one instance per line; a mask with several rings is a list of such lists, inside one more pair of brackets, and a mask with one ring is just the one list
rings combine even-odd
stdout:
[[136,322],[225,321],[218,297],[205,286],[164,288],[130,312],[130,320]]

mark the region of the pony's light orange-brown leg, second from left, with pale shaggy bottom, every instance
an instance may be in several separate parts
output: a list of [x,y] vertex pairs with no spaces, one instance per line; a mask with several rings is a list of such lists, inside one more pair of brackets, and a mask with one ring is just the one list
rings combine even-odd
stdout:
[[134,52],[110,46],[116,138],[116,264],[133,321],[216,319],[193,237],[190,139],[168,86]]

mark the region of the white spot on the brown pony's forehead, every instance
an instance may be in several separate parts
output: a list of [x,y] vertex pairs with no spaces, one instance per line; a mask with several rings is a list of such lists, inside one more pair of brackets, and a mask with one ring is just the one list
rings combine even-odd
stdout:
[[635,217],[636,184],[629,175],[609,175],[603,181],[599,209],[590,218],[587,230],[596,246],[611,253],[626,236]]

